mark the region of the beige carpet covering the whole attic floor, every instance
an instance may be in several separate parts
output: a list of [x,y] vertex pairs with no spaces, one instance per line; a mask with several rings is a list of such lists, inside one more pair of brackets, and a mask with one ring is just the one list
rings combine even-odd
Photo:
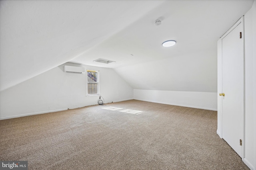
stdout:
[[248,169],[216,129],[216,111],[129,100],[1,120],[0,160],[30,170]]

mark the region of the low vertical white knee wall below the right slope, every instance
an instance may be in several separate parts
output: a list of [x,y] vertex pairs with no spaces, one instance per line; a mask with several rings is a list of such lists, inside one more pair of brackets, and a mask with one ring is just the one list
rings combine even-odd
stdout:
[[217,111],[216,92],[180,92],[134,89],[134,99]]

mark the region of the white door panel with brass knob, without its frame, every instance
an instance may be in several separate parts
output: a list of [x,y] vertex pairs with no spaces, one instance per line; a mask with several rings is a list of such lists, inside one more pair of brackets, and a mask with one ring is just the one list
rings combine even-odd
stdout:
[[[244,119],[243,25],[222,39],[222,138],[242,157]],[[241,35],[240,35],[241,32]]]

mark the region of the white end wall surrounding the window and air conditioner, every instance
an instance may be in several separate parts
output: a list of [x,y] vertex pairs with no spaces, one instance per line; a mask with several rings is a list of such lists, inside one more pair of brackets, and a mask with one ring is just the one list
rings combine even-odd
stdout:
[[[98,104],[99,96],[86,94],[86,74],[63,72],[64,65],[81,66],[73,63],[62,64],[1,91],[0,119]],[[133,89],[114,70],[82,66],[100,71],[100,95],[105,103],[133,98]]]

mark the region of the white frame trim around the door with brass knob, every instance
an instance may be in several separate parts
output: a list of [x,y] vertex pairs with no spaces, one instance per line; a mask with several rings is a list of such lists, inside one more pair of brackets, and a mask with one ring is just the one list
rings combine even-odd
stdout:
[[219,96],[222,93],[222,39],[226,37],[238,24],[242,24],[242,41],[243,41],[243,81],[244,81],[244,89],[243,89],[243,120],[242,120],[242,160],[244,160],[244,150],[245,150],[245,58],[244,58],[244,16],[242,16],[224,35],[220,37],[217,42],[217,99],[218,99],[218,127],[217,134],[222,139],[222,96]]

